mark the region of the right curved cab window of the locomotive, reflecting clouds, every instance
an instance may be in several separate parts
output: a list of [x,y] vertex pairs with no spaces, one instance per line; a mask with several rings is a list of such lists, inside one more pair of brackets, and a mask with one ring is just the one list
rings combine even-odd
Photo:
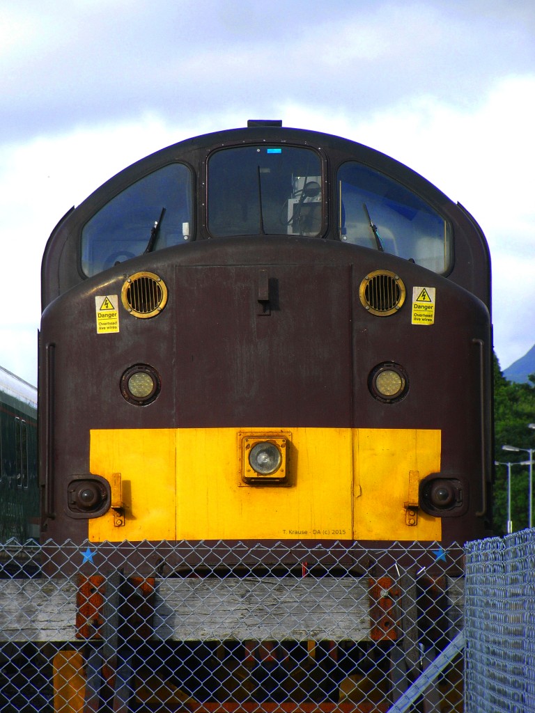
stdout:
[[345,163],[337,178],[340,240],[447,272],[452,229],[428,203],[360,163]]

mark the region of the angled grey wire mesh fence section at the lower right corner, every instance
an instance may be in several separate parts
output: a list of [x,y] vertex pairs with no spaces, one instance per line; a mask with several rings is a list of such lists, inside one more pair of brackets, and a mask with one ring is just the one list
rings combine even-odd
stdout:
[[535,712],[535,530],[467,545],[467,713]]

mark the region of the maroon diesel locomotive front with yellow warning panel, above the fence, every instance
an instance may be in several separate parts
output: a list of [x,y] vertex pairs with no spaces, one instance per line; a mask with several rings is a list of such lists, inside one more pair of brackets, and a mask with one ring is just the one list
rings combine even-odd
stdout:
[[350,140],[250,122],[126,168],[42,266],[41,538],[488,532],[490,261]]

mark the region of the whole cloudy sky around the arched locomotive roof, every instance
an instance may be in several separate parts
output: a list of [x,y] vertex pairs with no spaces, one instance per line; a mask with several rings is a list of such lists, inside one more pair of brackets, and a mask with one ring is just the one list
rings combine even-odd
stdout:
[[534,344],[534,3],[2,0],[0,365],[36,384],[41,257],[72,205],[249,118],[364,143],[461,202],[501,368]]

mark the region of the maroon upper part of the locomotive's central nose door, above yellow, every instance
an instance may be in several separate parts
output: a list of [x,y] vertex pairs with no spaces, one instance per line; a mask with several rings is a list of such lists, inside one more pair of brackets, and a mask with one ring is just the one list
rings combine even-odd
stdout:
[[177,268],[178,426],[349,427],[349,266]]

